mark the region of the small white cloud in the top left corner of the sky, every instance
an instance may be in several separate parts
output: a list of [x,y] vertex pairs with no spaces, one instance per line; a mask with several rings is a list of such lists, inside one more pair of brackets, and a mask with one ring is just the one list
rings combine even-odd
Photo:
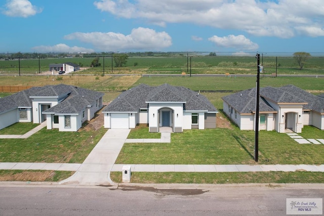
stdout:
[[42,9],[33,6],[28,0],[7,0],[3,14],[10,17],[29,17],[41,13]]

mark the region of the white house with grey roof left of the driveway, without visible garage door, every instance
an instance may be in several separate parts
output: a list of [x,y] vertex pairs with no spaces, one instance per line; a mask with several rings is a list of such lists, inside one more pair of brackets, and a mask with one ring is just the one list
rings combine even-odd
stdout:
[[77,131],[102,107],[103,93],[72,85],[33,87],[0,98],[0,129],[15,122],[42,123],[59,131]]

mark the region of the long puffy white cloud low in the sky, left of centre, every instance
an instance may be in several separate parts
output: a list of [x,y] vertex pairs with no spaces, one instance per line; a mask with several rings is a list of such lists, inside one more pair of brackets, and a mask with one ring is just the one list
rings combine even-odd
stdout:
[[134,28],[129,35],[115,32],[74,32],[65,39],[77,39],[92,44],[101,51],[158,50],[172,45],[171,36],[150,28]]

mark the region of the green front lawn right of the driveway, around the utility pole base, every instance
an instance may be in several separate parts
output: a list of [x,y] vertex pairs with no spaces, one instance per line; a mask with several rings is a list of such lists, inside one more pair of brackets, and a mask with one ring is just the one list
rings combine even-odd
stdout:
[[[323,133],[315,127],[304,129],[305,137]],[[125,143],[116,163],[255,164],[254,142],[254,131],[240,131],[237,127],[184,130],[173,133],[171,143]],[[324,145],[298,144],[275,131],[259,133],[259,164],[324,164],[322,155]]]

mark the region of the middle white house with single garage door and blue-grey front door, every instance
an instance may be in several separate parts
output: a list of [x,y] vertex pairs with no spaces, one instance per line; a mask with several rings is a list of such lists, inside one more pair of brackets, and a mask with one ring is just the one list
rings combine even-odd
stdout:
[[184,87],[140,84],[121,93],[103,113],[106,128],[135,128],[136,124],[145,123],[149,132],[159,132],[159,127],[182,132],[215,128],[218,111],[205,96]]

